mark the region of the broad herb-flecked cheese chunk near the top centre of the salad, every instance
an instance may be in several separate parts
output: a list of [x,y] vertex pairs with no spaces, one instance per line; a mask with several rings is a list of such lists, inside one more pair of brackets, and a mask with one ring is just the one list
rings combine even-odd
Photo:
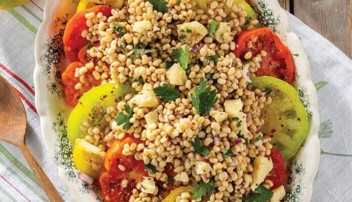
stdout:
[[183,43],[193,45],[203,39],[208,33],[204,25],[198,21],[186,22],[177,26],[177,33]]

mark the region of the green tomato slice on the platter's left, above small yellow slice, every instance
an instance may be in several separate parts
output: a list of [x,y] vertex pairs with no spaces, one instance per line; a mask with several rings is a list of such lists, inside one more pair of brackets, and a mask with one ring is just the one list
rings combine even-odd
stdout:
[[85,119],[89,119],[90,125],[99,124],[106,108],[116,106],[117,98],[131,92],[134,89],[130,85],[105,83],[84,93],[68,117],[67,136],[70,142],[74,144],[77,138],[86,135],[86,132],[79,129]]

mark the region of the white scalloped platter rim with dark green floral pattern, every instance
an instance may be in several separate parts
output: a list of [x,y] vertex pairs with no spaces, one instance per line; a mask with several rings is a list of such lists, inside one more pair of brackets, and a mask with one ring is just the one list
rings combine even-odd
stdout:
[[[62,35],[65,24],[75,12],[77,0],[47,1],[44,20],[35,41],[35,107],[40,116],[42,137],[59,175],[74,201],[103,201],[99,187],[78,180],[72,160],[73,145],[67,139],[66,121],[71,111],[64,102],[60,70],[68,64],[64,56]],[[277,0],[251,0],[259,22],[275,31],[294,57],[296,73],[293,85],[298,90],[310,119],[310,133],[295,157],[288,162],[288,192],[284,201],[309,201],[320,158],[318,138],[319,114],[317,92],[311,81],[308,57],[299,37]]]

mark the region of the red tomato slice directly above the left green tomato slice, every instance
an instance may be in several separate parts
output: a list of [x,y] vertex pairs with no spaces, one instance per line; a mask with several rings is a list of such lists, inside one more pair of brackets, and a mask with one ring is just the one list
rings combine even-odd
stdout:
[[83,67],[85,64],[81,62],[73,62],[67,66],[66,70],[62,73],[62,82],[66,88],[66,103],[70,107],[74,107],[77,104],[77,100],[83,95],[84,92],[90,90],[92,87],[100,84],[100,80],[96,80],[91,74],[92,70],[85,73],[84,83],[82,83],[81,89],[75,89],[75,85],[79,83],[79,78],[74,76],[76,68]]

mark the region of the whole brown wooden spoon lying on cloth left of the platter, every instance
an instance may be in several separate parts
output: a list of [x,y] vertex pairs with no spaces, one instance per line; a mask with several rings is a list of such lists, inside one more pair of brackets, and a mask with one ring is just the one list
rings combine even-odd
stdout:
[[28,149],[24,139],[26,127],[26,111],[20,97],[11,84],[0,76],[0,139],[20,148],[50,201],[64,201]]

